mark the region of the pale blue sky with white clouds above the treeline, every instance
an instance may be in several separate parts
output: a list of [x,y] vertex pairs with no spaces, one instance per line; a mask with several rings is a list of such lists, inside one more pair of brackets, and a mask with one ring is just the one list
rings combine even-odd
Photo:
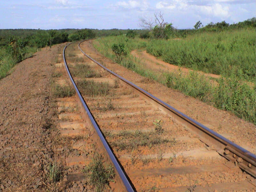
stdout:
[[232,24],[256,15],[255,0],[0,0],[0,28],[140,29],[140,19],[161,13],[175,28],[197,21]]

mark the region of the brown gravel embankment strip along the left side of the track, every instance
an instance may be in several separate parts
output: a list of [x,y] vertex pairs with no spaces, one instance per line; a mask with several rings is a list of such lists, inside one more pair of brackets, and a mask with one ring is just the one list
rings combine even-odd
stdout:
[[0,191],[52,190],[49,165],[61,152],[49,85],[63,46],[43,48],[0,80]]

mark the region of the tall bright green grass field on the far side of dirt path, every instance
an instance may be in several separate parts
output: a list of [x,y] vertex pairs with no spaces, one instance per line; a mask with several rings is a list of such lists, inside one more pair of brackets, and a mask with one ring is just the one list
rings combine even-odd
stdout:
[[190,35],[179,41],[152,40],[147,52],[168,63],[255,81],[255,29],[243,28]]

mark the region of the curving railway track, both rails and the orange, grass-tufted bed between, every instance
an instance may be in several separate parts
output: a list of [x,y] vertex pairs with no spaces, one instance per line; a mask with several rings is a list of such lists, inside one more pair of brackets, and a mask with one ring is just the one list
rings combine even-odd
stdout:
[[[90,54],[88,46],[79,49]],[[254,154],[85,55],[66,68],[127,191],[255,190]]]

